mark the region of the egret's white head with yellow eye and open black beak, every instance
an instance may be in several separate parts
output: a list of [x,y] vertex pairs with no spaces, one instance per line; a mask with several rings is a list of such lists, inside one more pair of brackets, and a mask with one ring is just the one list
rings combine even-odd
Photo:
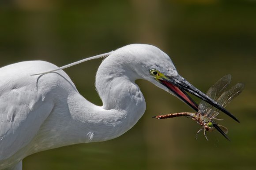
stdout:
[[[125,67],[129,66],[134,75],[138,76],[136,79],[150,81],[157,87],[181,99],[181,101],[196,110],[196,112],[198,112],[198,105],[186,92],[206,101],[239,122],[224,107],[180,76],[170,57],[159,48],[146,44],[131,44],[113,51],[112,54],[117,54],[125,60]],[[118,61],[116,58],[116,61],[122,65],[123,60]]]

